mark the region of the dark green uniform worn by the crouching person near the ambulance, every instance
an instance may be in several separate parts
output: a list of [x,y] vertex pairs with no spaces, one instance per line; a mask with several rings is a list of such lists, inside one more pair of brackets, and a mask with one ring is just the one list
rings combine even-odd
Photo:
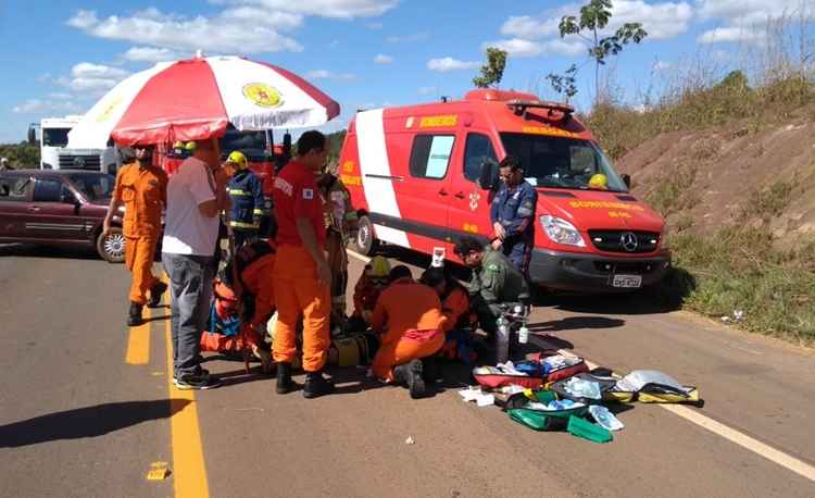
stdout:
[[494,334],[498,328],[499,304],[529,301],[529,286],[524,275],[502,252],[491,248],[486,249],[481,266],[473,270],[467,290],[478,323],[489,334]]

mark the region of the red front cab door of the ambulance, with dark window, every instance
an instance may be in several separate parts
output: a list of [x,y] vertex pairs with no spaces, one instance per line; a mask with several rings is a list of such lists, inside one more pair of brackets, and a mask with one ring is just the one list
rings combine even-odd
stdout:
[[467,129],[463,140],[463,161],[456,162],[457,171],[450,173],[448,217],[453,240],[463,235],[487,237],[492,232],[489,213],[493,192],[481,189],[476,179],[485,161],[498,162],[496,147],[490,134],[478,129]]

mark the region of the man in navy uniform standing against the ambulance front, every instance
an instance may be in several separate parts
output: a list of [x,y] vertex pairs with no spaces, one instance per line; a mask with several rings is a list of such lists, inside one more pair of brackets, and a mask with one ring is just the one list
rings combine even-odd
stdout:
[[502,251],[526,275],[535,247],[538,192],[524,179],[521,162],[513,155],[504,158],[498,171],[502,185],[490,206],[492,248]]

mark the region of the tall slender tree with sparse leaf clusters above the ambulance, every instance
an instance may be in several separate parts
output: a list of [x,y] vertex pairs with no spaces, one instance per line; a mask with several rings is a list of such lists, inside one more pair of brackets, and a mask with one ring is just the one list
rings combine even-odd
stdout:
[[[626,23],[613,35],[601,37],[600,32],[609,25],[609,21],[612,18],[611,10],[612,0],[591,0],[580,8],[579,20],[575,15],[564,15],[561,17],[559,25],[561,38],[566,35],[579,36],[587,45],[589,58],[594,61],[594,103],[600,98],[600,66],[605,64],[605,60],[610,55],[622,52],[623,46],[631,41],[639,43],[648,36],[641,23]],[[588,33],[588,36],[586,33]],[[576,72],[577,69],[573,64],[564,75],[550,73],[547,79],[555,91],[559,94],[565,92],[567,97],[573,97],[577,94],[574,86]],[[568,83],[570,83],[570,86]],[[572,95],[566,90],[572,91]]]

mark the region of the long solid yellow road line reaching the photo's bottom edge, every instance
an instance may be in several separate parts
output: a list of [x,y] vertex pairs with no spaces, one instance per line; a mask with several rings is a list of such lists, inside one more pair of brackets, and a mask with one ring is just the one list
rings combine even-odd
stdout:
[[[166,297],[170,303],[170,295]],[[171,321],[166,321],[164,340],[167,351],[167,388],[170,389],[170,429],[173,445],[173,481],[176,498],[209,498],[210,486],[198,425],[195,390],[173,385],[173,344]]]

